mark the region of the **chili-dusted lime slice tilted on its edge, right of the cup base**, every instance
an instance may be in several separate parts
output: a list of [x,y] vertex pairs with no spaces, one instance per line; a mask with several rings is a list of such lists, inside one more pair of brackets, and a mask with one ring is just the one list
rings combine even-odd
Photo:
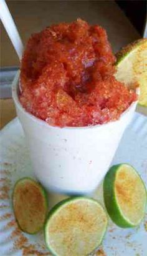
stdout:
[[146,188],[131,165],[110,168],[104,179],[103,194],[108,214],[116,225],[126,228],[140,224],[145,215]]

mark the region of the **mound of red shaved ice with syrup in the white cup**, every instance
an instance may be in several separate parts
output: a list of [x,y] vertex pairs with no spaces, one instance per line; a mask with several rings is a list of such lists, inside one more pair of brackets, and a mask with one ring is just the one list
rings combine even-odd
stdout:
[[132,88],[116,80],[115,61],[102,27],[81,19],[47,27],[27,42],[20,102],[51,126],[115,121],[137,100]]

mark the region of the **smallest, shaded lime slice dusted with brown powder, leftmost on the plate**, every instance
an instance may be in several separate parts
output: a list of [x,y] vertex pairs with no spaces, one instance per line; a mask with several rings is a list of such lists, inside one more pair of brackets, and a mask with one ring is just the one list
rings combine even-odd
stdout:
[[12,194],[12,204],[22,231],[36,234],[42,229],[47,216],[48,200],[39,183],[28,177],[18,180]]

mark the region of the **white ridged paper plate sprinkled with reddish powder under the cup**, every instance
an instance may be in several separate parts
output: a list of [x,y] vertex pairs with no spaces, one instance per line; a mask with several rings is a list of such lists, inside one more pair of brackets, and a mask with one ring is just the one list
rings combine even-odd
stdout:
[[[1,131],[0,169],[0,255],[50,255],[45,249],[44,235],[26,235],[17,228],[12,211],[12,188],[21,177],[34,177],[26,140],[18,119]],[[126,162],[133,165],[147,184],[147,118],[135,114],[126,130],[112,164]],[[50,208],[64,195],[49,194]],[[102,185],[95,195],[103,204]],[[97,255],[146,256],[147,213],[140,227],[120,229],[110,220],[107,235]],[[70,255],[68,255],[70,256]],[[82,256],[82,255],[81,255]]]

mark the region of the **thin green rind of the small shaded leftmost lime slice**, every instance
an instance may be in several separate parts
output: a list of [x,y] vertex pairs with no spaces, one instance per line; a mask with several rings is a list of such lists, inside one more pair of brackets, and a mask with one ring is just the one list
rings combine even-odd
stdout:
[[[47,210],[48,210],[48,207],[49,207],[49,201],[48,201],[48,195],[47,195],[47,192],[46,190],[44,189],[44,187],[42,187],[42,185],[39,183],[39,182],[36,182],[36,180],[32,179],[31,177],[22,177],[21,179],[17,180],[16,184],[14,185],[14,189],[13,189],[13,192],[12,192],[12,209],[14,211],[14,215],[16,217],[16,214],[15,214],[15,207],[14,207],[14,192],[15,192],[15,189],[17,188],[17,185],[21,185],[21,182],[24,183],[26,181],[30,180],[33,184],[37,184],[37,186],[39,187],[39,190],[42,194],[42,197],[44,198],[44,209],[45,209],[45,220],[46,220],[46,217],[47,217]],[[45,222],[44,220],[44,222]],[[21,227],[21,225],[19,224],[19,220],[16,218],[16,222],[17,222],[17,225],[19,227],[19,229],[21,229],[23,232],[27,233],[27,234],[30,234],[30,235],[35,235],[37,234],[40,230],[42,230],[42,228],[44,227],[44,223],[42,224],[42,227],[39,227],[38,230],[36,230],[36,232],[26,232],[26,230],[23,229],[23,227]]]

